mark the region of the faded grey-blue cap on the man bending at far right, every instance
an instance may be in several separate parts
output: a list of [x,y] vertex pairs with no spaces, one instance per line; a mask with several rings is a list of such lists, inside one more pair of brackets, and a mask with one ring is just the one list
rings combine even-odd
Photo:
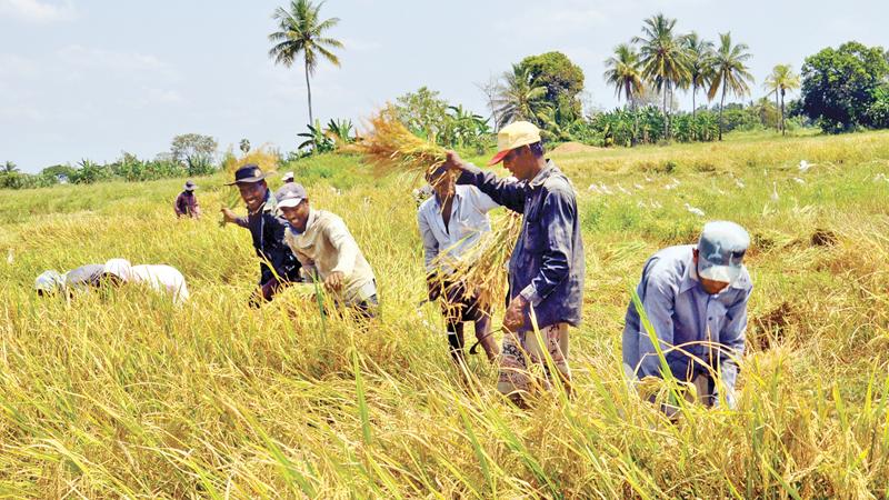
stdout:
[[741,274],[743,254],[749,247],[750,234],[737,223],[708,222],[698,241],[698,276],[733,283]]

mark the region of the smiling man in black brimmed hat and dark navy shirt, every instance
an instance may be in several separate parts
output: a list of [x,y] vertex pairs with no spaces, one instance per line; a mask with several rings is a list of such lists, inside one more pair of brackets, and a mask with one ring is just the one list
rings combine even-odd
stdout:
[[234,181],[226,186],[238,186],[241,199],[247,204],[247,217],[238,217],[222,208],[226,222],[233,222],[250,230],[253,249],[260,259],[259,288],[250,303],[271,300],[288,283],[301,281],[300,263],[284,243],[287,221],[280,217],[278,206],[266,183],[268,173],[256,164],[246,164],[234,172]]

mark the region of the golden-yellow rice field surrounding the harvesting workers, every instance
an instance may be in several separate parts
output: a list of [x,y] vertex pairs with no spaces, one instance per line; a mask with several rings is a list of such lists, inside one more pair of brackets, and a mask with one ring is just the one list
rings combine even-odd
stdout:
[[[3,191],[0,496],[887,498],[889,133],[562,150],[585,323],[573,398],[529,410],[497,394],[483,354],[460,373],[438,306],[420,304],[416,174],[354,156],[297,170],[374,269],[368,331],[298,290],[248,307],[258,262],[218,223],[224,174],[196,179],[199,221],[173,217],[184,179]],[[670,423],[623,383],[623,313],[646,259],[711,219],[753,239],[739,408]],[[177,267],[191,300],[31,291],[46,269],[116,257]]]

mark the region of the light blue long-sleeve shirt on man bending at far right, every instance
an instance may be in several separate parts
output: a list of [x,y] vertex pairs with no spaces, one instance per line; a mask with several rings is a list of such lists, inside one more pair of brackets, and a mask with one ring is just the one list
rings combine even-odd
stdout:
[[[660,348],[673,377],[691,380],[709,371],[699,361],[719,370],[727,400],[733,406],[737,360],[743,354],[747,329],[747,302],[753,284],[746,268],[721,292],[711,296],[701,288],[695,269],[693,246],[663,249],[646,262],[636,291],[646,316],[655,328]],[[709,332],[709,339],[708,339]],[[713,342],[710,348],[706,343]],[[661,377],[655,344],[641,326],[636,306],[630,301],[623,328],[623,363],[637,377]],[[680,350],[670,350],[681,347]],[[668,352],[669,350],[669,352]],[[718,366],[717,366],[718,364]],[[719,388],[716,388],[717,392]]]

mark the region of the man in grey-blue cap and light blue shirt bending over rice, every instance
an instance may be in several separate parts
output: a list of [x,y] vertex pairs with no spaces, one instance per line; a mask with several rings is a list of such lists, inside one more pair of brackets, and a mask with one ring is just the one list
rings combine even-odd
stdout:
[[[753,289],[743,266],[749,246],[749,234],[735,222],[709,222],[697,246],[669,247],[649,258],[636,289],[670,372],[693,384],[706,406],[719,403],[720,393],[729,408],[735,406],[747,302]],[[622,344],[623,369],[631,380],[663,377],[632,301]]]

